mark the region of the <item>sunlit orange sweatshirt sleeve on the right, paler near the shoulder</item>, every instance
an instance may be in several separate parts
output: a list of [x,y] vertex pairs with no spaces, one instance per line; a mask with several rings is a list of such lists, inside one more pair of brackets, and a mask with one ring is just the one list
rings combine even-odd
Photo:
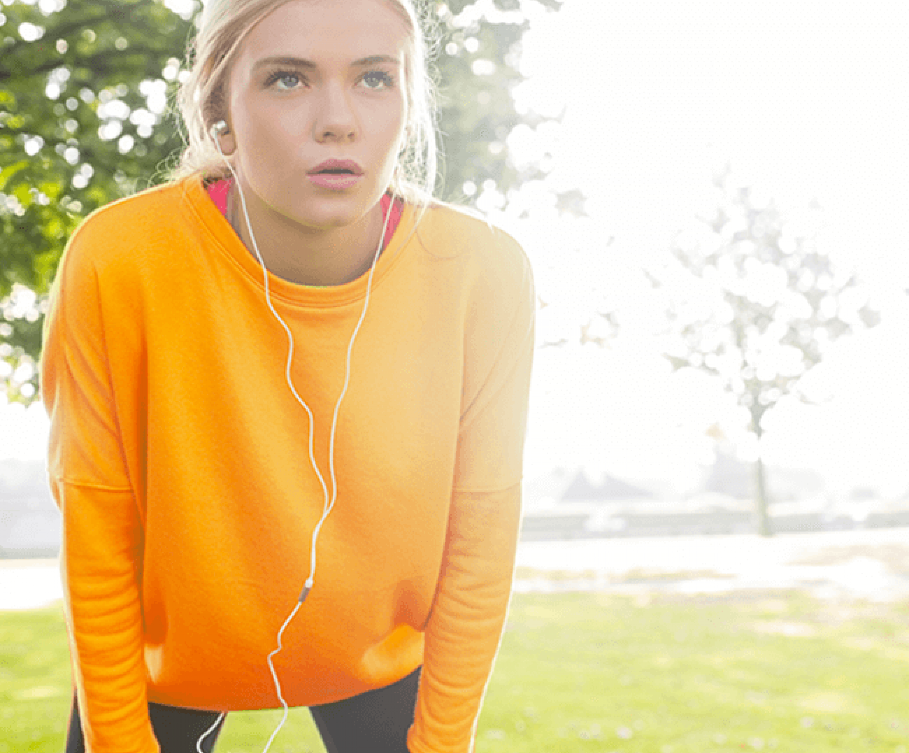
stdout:
[[[425,630],[411,753],[468,753],[504,629],[521,517],[535,296],[523,251],[477,291],[442,573]],[[515,268],[516,267],[516,268]],[[473,364],[471,363],[473,361]]]

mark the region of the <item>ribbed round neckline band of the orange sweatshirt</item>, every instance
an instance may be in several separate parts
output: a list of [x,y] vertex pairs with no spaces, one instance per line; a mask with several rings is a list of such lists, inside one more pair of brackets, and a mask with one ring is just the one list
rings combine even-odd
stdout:
[[[252,278],[256,286],[265,293],[265,283],[262,266],[255,254],[249,250],[237,236],[227,218],[215,206],[215,202],[205,190],[203,178],[195,175],[187,178],[185,189],[189,206],[202,222],[208,232],[213,236],[218,249],[228,256],[245,274]],[[397,261],[403,256],[406,241],[413,235],[415,226],[414,207],[405,202],[401,219],[395,232],[388,239],[385,249],[379,255],[373,276],[373,291],[381,285]],[[355,280],[334,286],[313,286],[290,282],[283,277],[268,272],[268,287],[271,296],[281,299],[285,303],[303,306],[345,306],[355,301],[362,300],[366,295],[366,285],[369,280],[369,270]]]

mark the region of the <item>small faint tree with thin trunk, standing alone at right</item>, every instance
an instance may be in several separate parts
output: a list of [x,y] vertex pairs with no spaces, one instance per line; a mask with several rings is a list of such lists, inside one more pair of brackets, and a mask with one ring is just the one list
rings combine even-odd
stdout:
[[760,450],[764,415],[786,396],[810,403],[800,380],[826,346],[876,326],[880,316],[856,277],[836,269],[815,246],[810,228],[788,221],[752,188],[735,186],[728,169],[715,184],[723,198],[714,216],[679,236],[672,262],[648,276],[666,296],[666,357],[673,367],[719,378],[747,411],[758,447],[758,530],[770,536]]

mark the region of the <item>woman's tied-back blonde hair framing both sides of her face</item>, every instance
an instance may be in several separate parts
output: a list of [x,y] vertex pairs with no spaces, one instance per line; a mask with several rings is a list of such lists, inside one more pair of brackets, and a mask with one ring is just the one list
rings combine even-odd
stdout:
[[[228,177],[224,159],[209,132],[227,115],[227,77],[245,36],[265,15],[290,0],[208,0],[190,47],[190,74],[180,87],[177,105],[183,116],[186,148],[175,178],[201,173],[206,179]],[[343,2],[343,0],[340,0]],[[418,14],[421,0],[385,0],[405,21],[405,149],[391,188],[405,201],[425,206],[433,200],[438,170],[435,139],[435,82],[429,63],[433,45],[424,28],[428,14]]]

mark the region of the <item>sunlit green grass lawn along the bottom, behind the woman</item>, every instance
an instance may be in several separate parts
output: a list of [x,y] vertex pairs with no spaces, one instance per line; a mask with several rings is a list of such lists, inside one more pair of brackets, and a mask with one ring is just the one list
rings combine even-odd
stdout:
[[[63,747],[59,608],[0,613],[0,753]],[[278,712],[231,714],[218,753],[261,753]],[[482,753],[909,753],[909,604],[797,593],[514,597]],[[322,753],[305,709],[275,753]]]

